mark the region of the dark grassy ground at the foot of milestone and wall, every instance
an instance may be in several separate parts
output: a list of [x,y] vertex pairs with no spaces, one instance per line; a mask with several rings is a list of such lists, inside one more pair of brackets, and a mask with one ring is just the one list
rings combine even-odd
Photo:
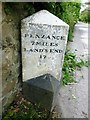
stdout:
[[2,120],[47,120],[49,111],[33,105],[18,94],[3,115]]

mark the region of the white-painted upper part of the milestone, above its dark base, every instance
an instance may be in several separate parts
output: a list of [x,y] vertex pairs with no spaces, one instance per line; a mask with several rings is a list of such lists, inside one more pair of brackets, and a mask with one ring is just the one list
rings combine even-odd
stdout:
[[21,26],[23,81],[47,73],[60,80],[69,26],[46,10]]

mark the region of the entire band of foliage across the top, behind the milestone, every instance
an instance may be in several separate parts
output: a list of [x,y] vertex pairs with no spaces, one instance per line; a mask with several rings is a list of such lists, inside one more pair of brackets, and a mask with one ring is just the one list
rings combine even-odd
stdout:
[[61,18],[69,26],[69,38],[71,41],[73,37],[74,25],[79,19],[80,3],[79,2],[32,2],[32,3],[5,3],[5,12],[10,14],[12,11],[17,11],[16,6],[23,6],[21,9],[24,9],[28,15],[31,15],[39,10],[46,9]]

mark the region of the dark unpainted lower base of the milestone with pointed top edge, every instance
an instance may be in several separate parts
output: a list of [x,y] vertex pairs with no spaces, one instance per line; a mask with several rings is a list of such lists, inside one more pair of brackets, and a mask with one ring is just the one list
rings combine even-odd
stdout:
[[50,74],[45,74],[23,82],[23,94],[32,103],[51,110],[60,82]]

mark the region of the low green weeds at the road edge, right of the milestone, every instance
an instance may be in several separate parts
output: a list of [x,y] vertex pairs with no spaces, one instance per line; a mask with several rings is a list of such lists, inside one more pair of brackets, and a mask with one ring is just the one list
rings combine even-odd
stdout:
[[64,64],[62,69],[62,84],[68,85],[69,83],[75,83],[76,80],[74,78],[74,73],[76,71],[76,68],[81,69],[83,66],[88,67],[89,65],[89,61],[84,61],[82,59],[80,60],[80,62],[78,62],[76,54],[67,50],[65,53]]

